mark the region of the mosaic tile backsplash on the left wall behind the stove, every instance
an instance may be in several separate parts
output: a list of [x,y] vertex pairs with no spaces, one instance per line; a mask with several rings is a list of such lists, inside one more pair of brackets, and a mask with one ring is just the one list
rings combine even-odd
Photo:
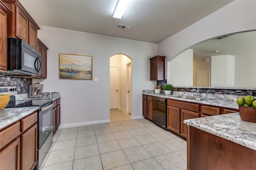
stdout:
[[0,86],[16,86],[17,93],[28,93],[32,78],[6,76],[0,73]]

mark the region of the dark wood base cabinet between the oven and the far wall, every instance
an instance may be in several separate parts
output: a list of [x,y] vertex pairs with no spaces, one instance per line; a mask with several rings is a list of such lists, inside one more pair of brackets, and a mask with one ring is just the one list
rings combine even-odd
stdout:
[[52,122],[52,132],[55,134],[58,127],[60,126],[60,98],[53,101]]

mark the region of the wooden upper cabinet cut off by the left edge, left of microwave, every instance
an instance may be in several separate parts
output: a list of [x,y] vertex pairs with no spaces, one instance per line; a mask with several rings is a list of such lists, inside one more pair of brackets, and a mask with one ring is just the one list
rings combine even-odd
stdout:
[[7,70],[7,14],[10,10],[0,0],[0,71]]

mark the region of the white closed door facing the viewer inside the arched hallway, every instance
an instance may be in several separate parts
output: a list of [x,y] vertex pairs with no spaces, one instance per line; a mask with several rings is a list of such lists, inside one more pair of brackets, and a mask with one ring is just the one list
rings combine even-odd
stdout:
[[118,68],[110,67],[110,109],[118,109],[119,92]]

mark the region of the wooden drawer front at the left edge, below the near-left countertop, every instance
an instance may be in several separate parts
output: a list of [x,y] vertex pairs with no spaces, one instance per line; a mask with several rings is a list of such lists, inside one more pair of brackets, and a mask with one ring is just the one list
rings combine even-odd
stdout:
[[20,122],[0,132],[0,149],[20,135]]

